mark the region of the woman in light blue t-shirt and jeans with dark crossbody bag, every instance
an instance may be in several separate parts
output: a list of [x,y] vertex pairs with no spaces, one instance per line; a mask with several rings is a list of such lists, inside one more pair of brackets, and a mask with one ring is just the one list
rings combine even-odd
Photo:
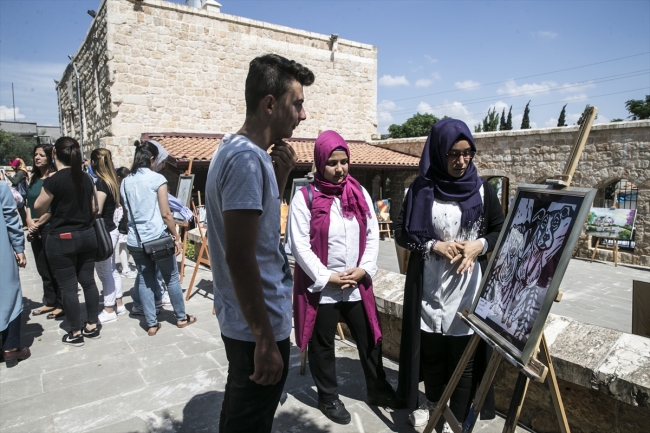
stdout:
[[[120,193],[129,233],[126,244],[138,269],[136,286],[147,321],[148,334],[156,335],[161,327],[156,318],[154,288],[156,267],[160,269],[176,314],[176,326],[184,328],[196,322],[185,313],[183,289],[176,254],[182,250],[176,224],[167,201],[167,179],[152,168],[158,148],[153,143],[136,141],[131,174],[122,181]],[[137,204],[136,204],[137,203]]]

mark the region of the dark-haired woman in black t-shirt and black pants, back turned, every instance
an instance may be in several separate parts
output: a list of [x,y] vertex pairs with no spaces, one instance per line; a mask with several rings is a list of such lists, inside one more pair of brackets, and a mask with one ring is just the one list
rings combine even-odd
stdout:
[[[70,331],[63,344],[83,346],[84,338],[99,338],[99,292],[95,284],[97,237],[94,221],[95,186],[81,170],[81,149],[74,138],[61,137],[52,151],[58,171],[43,182],[34,210],[51,209],[50,235],[45,244],[54,271]],[[88,321],[82,325],[78,285],[84,292]]]

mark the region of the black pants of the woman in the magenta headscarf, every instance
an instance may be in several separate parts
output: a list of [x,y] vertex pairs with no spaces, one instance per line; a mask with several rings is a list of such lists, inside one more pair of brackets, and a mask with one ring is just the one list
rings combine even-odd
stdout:
[[363,304],[361,301],[337,302],[318,306],[314,332],[309,341],[309,370],[316,383],[319,400],[329,403],[339,398],[334,335],[340,316],[357,342],[359,359],[366,378],[366,393],[372,397],[392,396],[393,387],[386,380],[382,364],[381,344],[374,345]]

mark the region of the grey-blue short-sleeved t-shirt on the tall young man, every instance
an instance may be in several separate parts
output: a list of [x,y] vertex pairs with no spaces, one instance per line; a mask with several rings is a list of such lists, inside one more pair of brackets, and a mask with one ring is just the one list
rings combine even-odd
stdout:
[[254,341],[226,264],[222,213],[255,209],[261,212],[255,257],[266,309],[276,341],[289,338],[292,286],[282,269],[285,261],[280,252],[280,194],[271,157],[248,138],[226,134],[212,157],[205,197],[214,306],[221,332],[228,338]]

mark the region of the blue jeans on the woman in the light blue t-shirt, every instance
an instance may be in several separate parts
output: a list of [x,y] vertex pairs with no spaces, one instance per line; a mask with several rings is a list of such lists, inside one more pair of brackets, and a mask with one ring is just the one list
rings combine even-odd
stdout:
[[183,301],[183,289],[181,288],[181,280],[178,274],[178,265],[176,264],[176,257],[172,256],[159,262],[154,262],[148,255],[140,248],[129,247],[129,252],[133,257],[135,266],[138,269],[138,276],[136,277],[136,285],[140,294],[140,301],[142,302],[142,310],[144,317],[147,321],[147,326],[150,328],[158,324],[156,318],[156,303],[154,300],[154,290],[158,286],[156,280],[156,267],[160,270],[165,284],[167,284],[167,291],[169,292],[169,300],[174,308],[176,320],[185,320],[185,301]]

